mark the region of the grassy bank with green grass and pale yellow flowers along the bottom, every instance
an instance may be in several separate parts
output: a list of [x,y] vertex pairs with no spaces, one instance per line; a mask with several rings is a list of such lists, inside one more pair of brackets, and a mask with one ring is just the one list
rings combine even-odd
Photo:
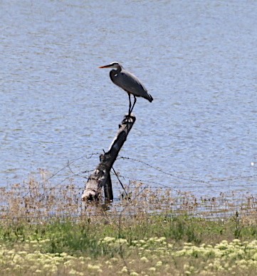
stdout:
[[[257,228],[162,214],[1,226],[3,275],[256,275]],[[239,273],[240,272],[240,273]]]

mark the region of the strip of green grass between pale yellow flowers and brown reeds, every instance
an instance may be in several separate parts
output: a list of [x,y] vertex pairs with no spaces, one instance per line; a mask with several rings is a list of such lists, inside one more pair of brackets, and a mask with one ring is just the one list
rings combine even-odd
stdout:
[[[100,218],[99,218],[100,220]],[[240,234],[238,228],[240,227]],[[241,241],[257,239],[256,226],[238,223],[233,217],[230,219],[211,221],[198,219],[193,216],[167,216],[167,214],[137,216],[121,220],[101,223],[87,219],[73,221],[72,219],[52,219],[50,222],[30,224],[26,221],[11,225],[0,225],[0,241],[16,243],[17,241],[51,241],[45,248],[48,253],[85,252],[90,256],[102,255],[98,241],[106,236],[125,238],[128,243],[134,240],[148,239],[162,236],[172,243],[219,243],[226,239]]]

